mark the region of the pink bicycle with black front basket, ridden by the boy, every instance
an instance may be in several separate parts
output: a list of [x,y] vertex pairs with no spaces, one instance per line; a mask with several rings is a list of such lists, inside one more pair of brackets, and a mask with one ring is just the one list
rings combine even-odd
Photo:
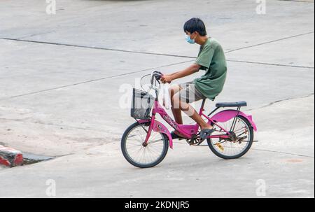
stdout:
[[[241,112],[246,101],[217,103],[214,111],[204,114],[202,101],[199,114],[208,120],[215,132],[207,137],[207,145],[200,143],[200,127],[179,125],[169,117],[158,102],[160,77],[162,73],[154,71],[151,74],[150,90],[155,97],[141,90],[133,89],[131,116],[137,122],[128,127],[121,139],[121,149],[125,159],[135,167],[154,167],[165,158],[168,148],[173,148],[172,135],[155,116],[159,114],[172,128],[185,136],[190,146],[209,146],[211,151],[223,159],[235,159],[248,152],[253,144],[253,131],[257,131],[251,115]],[[142,87],[142,86],[141,86]],[[214,114],[219,108],[235,107],[236,110],[224,110]]]

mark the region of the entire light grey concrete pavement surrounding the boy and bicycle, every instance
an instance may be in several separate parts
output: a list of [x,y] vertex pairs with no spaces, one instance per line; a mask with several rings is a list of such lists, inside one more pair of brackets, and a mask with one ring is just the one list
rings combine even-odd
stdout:
[[[50,178],[57,197],[256,197],[260,178],[267,197],[314,197],[314,1],[267,1],[265,15],[250,0],[65,0],[56,15],[40,0],[0,4],[0,144],[63,156],[1,170],[14,179],[0,197],[46,197]],[[179,143],[159,167],[135,169],[119,150],[133,122],[120,85],[192,63],[182,26],[193,16],[227,52],[216,101],[248,101],[260,142],[234,161]]]

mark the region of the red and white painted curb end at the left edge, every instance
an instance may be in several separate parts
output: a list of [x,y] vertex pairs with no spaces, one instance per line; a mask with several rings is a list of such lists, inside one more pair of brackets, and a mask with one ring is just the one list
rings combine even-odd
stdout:
[[0,145],[0,164],[6,167],[16,167],[23,164],[23,155],[19,150]]

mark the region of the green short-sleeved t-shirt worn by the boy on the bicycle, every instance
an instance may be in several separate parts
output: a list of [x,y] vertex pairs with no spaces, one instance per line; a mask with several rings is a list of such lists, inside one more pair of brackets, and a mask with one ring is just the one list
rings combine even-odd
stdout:
[[199,64],[200,69],[206,71],[204,76],[194,80],[195,87],[204,97],[214,100],[223,90],[227,75],[227,64],[220,43],[214,38],[208,38],[200,47],[195,64]]

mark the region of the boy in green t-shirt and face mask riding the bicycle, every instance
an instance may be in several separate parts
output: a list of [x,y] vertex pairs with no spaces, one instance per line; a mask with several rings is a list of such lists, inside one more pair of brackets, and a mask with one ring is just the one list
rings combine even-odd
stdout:
[[[214,100],[221,93],[227,75],[227,64],[223,48],[218,41],[207,36],[206,27],[202,20],[193,17],[184,24],[183,29],[188,43],[200,45],[198,57],[195,63],[188,68],[163,75],[161,81],[162,83],[171,83],[172,80],[189,76],[200,69],[206,71],[204,76],[188,83],[174,85],[169,90],[175,121],[180,125],[183,124],[181,111],[184,111],[200,125],[200,141],[204,141],[214,132],[214,129],[202,119],[189,103],[207,98]],[[181,137],[178,132],[172,132],[172,138],[179,139]]]

